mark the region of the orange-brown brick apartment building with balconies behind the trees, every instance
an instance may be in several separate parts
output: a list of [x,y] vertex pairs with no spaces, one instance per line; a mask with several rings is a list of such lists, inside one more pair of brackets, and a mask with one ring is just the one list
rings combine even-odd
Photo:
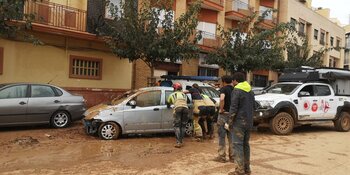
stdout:
[[[117,0],[115,0],[117,1]],[[191,0],[175,0],[174,14],[179,17],[186,11]],[[218,65],[206,64],[207,53],[221,45],[218,26],[225,28],[236,27],[238,21],[252,14],[254,11],[262,14],[268,9],[278,9],[278,0],[203,0],[198,19],[197,30],[202,31],[202,40],[198,42],[201,48],[199,58],[177,63],[162,63],[155,70],[155,76],[161,75],[191,75],[191,76],[222,76],[226,72]],[[276,25],[277,13],[269,14],[261,24],[262,28],[272,28]],[[136,61],[134,67],[133,84],[135,88],[147,86],[151,71],[142,61]],[[268,80],[275,79],[268,70],[255,71],[248,78],[260,86],[265,86]]]

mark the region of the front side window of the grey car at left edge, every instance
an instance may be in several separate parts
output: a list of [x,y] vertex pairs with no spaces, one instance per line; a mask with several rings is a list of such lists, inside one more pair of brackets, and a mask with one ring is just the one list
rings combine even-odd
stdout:
[[5,88],[0,91],[0,99],[25,98],[27,96],[27,85],[18,85]]

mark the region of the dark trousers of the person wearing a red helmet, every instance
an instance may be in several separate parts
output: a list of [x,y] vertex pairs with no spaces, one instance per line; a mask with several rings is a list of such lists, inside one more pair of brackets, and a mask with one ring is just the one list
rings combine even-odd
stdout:
[[180,144],[185,137],[186,124],[188,122],[188,109],[185,107],[178,107],[174,113],[174,130],[176,143]]

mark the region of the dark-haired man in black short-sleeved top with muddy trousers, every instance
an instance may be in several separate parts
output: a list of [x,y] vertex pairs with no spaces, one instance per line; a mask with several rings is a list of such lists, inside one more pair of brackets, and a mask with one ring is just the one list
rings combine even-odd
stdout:
[[[219,135],[219,150],[218,157],[214,161],[225,163],[226,162],[226,137],[229,145],[229,160],[233,162],[233,146],[232,146],[232,134],[228,126],[228,118],[231,104],[231,93],[233,90],[232,78],[228,75],[221,77],[222,88],[220,89],[220,108],[217,121],[218,135]],[[226,127],[225,127],[226,125]]]

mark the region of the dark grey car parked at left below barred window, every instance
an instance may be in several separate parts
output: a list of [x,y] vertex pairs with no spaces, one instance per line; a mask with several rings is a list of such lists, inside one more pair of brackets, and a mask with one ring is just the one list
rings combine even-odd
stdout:
[[63,128],[82,119],[85,103],[57,86],[0,84],[0,126],[50,124]]

